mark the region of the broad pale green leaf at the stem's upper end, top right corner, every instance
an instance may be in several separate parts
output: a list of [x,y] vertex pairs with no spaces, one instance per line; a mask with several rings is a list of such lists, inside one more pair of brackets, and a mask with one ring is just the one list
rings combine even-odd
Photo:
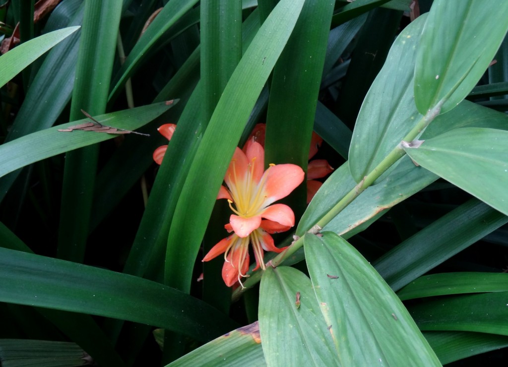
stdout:
[[447,112],[471,91],[508,30],[507,16],[503,0],[433,2],[415,68],[415,102],[422,115],[440,101],[440,113]]

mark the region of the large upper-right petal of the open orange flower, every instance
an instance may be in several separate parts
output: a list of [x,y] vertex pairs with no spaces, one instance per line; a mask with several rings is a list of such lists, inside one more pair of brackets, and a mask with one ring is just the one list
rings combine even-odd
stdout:
[[265,206],[288,196],[302,183],[305,176],[299,166],[290,163],[270,166],[265,175],[267,175],[264,187]]

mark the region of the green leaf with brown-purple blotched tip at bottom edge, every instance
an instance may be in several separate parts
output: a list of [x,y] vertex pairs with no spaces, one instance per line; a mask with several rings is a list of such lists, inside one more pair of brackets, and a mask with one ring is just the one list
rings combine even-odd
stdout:
[[198,365],[210,367],[266,365],[258,321],[228,332],[168,364],[171,367]]

